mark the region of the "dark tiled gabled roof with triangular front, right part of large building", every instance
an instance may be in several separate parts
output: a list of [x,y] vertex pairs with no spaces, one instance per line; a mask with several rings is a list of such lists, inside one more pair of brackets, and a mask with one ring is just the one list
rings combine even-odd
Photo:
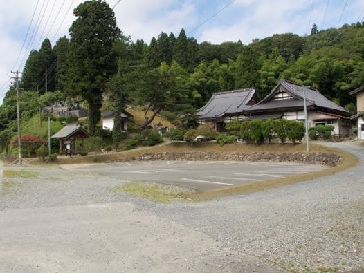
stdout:
[[[292,95],[290,98],[281,99],[281,100],[272,100],[273,96],[277,93],[279,87],[282,88],[289,94]],[[321,108],[321,109],[329,109],[338,111],[343,113],[344,115],[349,114],[349,112],[343,107],[331,102],[324,95],[318,92],[316,89],[309,87],[302,87],[299,84],[295,84],[293,82],[289,82],[285,79],[282,79],[277,86],[266,95],[263,100],[258,102],[257,104],[248,107],[246,111],[266,111],[266,110],[280,110],[280,109],[290,109],[290,108],[303,108],[303,90],[306,93],[306,104],[309,108]]]

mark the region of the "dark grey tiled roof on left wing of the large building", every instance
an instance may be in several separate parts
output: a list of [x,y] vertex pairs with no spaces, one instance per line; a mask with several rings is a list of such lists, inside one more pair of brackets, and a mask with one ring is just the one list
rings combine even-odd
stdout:
[[222,117],[228,113],[242,113],[251,101],[255,90],[241,90],[214,93],[208,103],[197,112],[200,119]]

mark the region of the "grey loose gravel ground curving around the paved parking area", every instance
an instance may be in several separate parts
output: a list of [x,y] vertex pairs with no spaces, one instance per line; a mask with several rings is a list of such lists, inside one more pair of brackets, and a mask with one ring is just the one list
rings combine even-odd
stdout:
[[364,270],[364,147],[330,145],[361,162],[334,176],[203,203],[151,203],[111,191],[120,179],[24,166],[39,170],[39,178],[5,179],[0,211],[127,202],[136,211],[205,234],[238,256],[255,256],[260,262],[254,270],[261,262],[298,272]]

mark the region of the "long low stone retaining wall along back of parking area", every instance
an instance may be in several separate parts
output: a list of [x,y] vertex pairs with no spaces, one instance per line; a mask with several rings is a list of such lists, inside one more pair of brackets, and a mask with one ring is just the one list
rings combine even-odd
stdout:
[[342,158],[334,153],[223,153],[223,152],[164,152],[143,153],[140,156],[129,156],[111,162],[127,161],[271,161],[271,162],[300,162],[336,166]]

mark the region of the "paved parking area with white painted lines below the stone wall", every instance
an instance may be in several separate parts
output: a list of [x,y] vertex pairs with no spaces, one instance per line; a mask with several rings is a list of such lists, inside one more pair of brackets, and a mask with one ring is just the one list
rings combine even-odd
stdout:
[[154,161],[120,162],[64,166],[73,171],[87,171],[127,181],[158,182],[207,191],[298,173],[317,171],[327,167],[318,164],[236,161]]

